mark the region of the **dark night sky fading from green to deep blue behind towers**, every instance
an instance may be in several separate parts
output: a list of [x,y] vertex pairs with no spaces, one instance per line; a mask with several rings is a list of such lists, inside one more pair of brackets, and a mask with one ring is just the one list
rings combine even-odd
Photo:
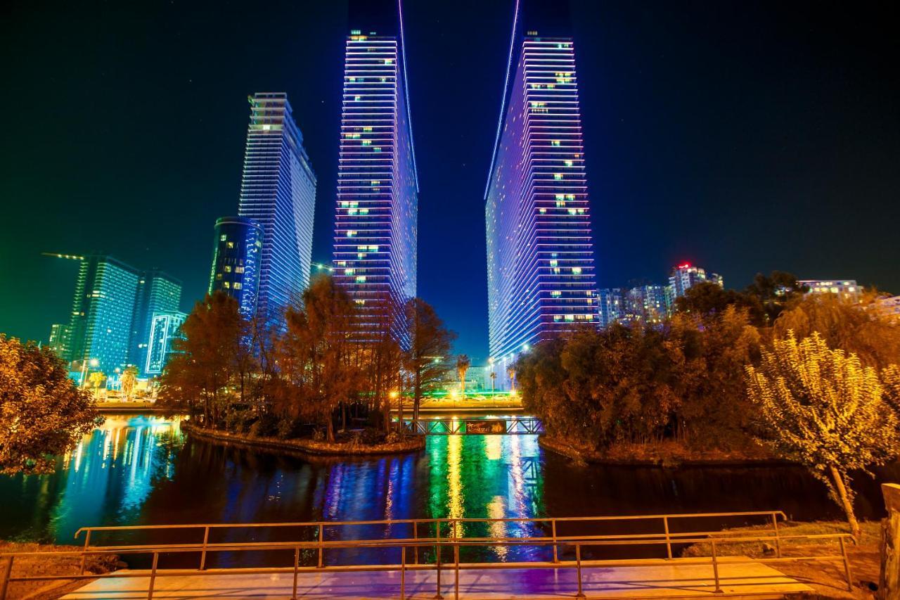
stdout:
[[[599,286],[690,261],[900,293],[896,3],[575,2]],[[329,261],[347,6],[6,4],[0,332],[67,322],[108,251],[205,292],[235,214],[247,95],[284,91],[319,177]],[[483,191],[512,0],[404,5],[419,162],[419,295],[487,355]]]

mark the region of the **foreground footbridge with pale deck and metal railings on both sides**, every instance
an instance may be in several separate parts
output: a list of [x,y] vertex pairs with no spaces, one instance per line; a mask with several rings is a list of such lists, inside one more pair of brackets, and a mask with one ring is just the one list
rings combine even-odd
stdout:
[[[92,580],[64,596],[70,600],[778,597],[814,590],[767,563],[811,559],[834,561],[851,581],[849,534],[783,535],[784,518],[774,511],[88,527],[76,532],[81,550],[0,555],[0,600],[14,597],[14,586],[60,579]],[[763,524],[722,532],[724,519]],[[596,533],[604,527],[625,533]],[[171,542],[124,541],[135,534]],[[803,556],[803,542],[814,538],[839,550]],[[788,551],[797,542],[801,550]],[[775,553],[751,559],[729,550],[762,543]],[[682,558],[692,544],[700,551]],[[636,549],[644,558],[626,558]],[[110,554],[147,568],[85,572],[87,559]],[[80,558],[80,572],[40,574],[51,556],[73,557],[74,565]]]

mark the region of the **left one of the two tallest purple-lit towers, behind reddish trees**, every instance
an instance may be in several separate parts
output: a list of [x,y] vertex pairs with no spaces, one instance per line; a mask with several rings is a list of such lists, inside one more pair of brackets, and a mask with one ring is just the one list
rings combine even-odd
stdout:
[[365,338],[390,327],[391,307],[416,295],[419,182],[401,2],[351,3],[350,25],[333,266],[363,308]]

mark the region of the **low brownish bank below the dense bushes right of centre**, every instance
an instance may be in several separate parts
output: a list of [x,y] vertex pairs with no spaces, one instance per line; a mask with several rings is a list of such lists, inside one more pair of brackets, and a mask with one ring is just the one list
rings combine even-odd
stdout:
[[540,436],[538,443],[545,450],[562,454],[576,462],[596,465],[765,467],[791,464],[773,457],[760,446],[743,450],[693,450],[679,442],[662,441],[649,444],[618,444],[599,452],[546,434]]

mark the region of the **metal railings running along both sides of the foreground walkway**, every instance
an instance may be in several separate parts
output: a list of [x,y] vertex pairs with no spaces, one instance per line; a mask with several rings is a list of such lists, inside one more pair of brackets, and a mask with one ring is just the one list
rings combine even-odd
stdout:
[[[692,531],[672,532],[670,525],[673,521],[681,519],[698,519],[714,517],[764,517],[771,527],[767,529],[748,532],[722,532],[722,531]],[[4,566],[0,570],[0,600],[6,600],[6,593],[10,583],[23,581],[51,581],[51,580],[78,580],[111,577],[148,577],[148,599],[152,600],[157,577],[196,577],[211,575],[258,575],[293,573],[292,598],[297,597],[298,577],[306,572],[374,572],[374,571],[400,571],[401,598],[406,598],[406,575],[408,571],[431,570],[437,574],[437,594],[441,595],[441,575],[443,571],[452,570],[454,573],[454,595],[460,594],[460,569],[505,569],[505,568],[573,568],[576,571],[578,586],[577,597],[583,598],[582,568],[592,566],[603,567],[650,567],[659,566],[661,559],[584,559],[582,550],[598,547],[623,547],[623,546],[665,546],[666,558],[664,562],[673,561],[681,565],[709,565],[712,570],[714,591],[718,594],[726,594],[722,589],[722,577],[719,568],[723,562],[721,549],[728,544],[749,542],[775,542],[775,556],[763,559],[749,559],[744,557],[728,557],[727,564],[745,563],[770,563],[791,560],[806,561],[840,561],[847,577],[848,589],[852,590],[852,577],[850,560],[847,555],[847,542],[854,541],[849,533],[815,534],[815,535],[783,535],[779,532],[779,517],[786,519],[780,511],[744,512],[744,513],[700,513],[700,514],[647,514],[633,516],[598,516],[598,517],[547,517],[547,518],[508,518],[508,519],[403,519],[382,521],[349,521],[349,522],[311,522],[311,523],[200,523],[191,525],[133,525],[121,527],[85,527],[76,532],[76,539],[85,532],[85,544],[81,550],[69,550],[63,552],[37,551],[37,552],[8,552],[0,554],[0,560]],[[658,521],[662,525],[662,532],[650,533],[625,533],[613,535],[560,535],[560,524],[602,523],[612,521]],[[549,526],[550,535],[534,535],[527,537],[500,537],[500,536],[472,536],[466,537],[460,534],[460,530],[466,523],[543,523]],[[329,528],[341,529],[347,527],[359,527],[365,525],[386,525],[389,530],[394,526],[411,528],[413,537],[380,538],[366,540],[326,540],[325,532]],[[425,528],[426,537],[419,537],[419,532]],[[217,530],[257,529],[257,528],[302,528],[311,530],[311,540],[302,541],[246,541],[246,542],[211,542],[210,533]],[[430,534],[430,530],[434,534]],[[202,531],[202,541],[181,544],[140,544],[140,545],[91,545],[92,533],[97,532],[131,532],[131,531],[157,531],[157,530],[181,530]],[[442,531],[446,530],[446,531]],[[315,533],[312,533],[315,532]],[[790,556],[783,555],[782,545],[793,541],[837,541],[841,550],[840,554],[818,554],[815,556]],[[690,558],[676,558],[672,553],[673,545],[702,544],[709,546],[710,556]],[[460,549],[466,547],[506,547],[518,546],[552,549],[552,560],[520,561],[520,562],[473,562],[462,563],[460,561]],[[354,565],[327,565],[326,552],[329,550],[400,550],[399,564],[354,564]],[[422,549],[434,551],[434,562],[419,562]],[[442,560],[444,550],[449,549],[453,553],[453,561],[447,563]],[[560,559],[559,549],[570,549],[574,553],[574,559]],[[265,568],[207,568],[207,557],[214,552],[260,552],[260,551],[287,551],[293,550],[293,565],[288,567]],[[301,556],[303,550],[311,550],[316,558],[314,565],[302,565]],[[413,550],[413,560],[409,561],[409,550]],[[199,553],[198,568],[159,568],[159,557],[163,554]],[[148,570],[113,571],[111,573],[96,575],[85,574],[86,560],[90,556],[103,555],[148,555],[151,558],[151,567]],[[53,558],[60,556],[81,557],[80,571],[76,575],[47,575],[31,577],[12,577],[14,559],[20,557]],[[742,577],[743,578],[743,577]],[[696,577],[692,577],[696,579]],[[638,582],[635,582],[638,583]],[[752,584],[741,584],[743,586]],[[746,590],[742,590],[745,594]],[[604,594],[605,598],[616,597]]]

